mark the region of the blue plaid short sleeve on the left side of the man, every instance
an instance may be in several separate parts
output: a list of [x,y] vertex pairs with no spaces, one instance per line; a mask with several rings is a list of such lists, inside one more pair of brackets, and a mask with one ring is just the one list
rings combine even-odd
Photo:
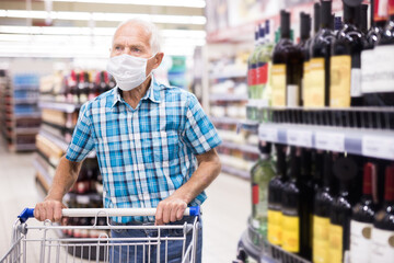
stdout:
[[94,147],[92,122],[88,114],[88,103],[89,102],[81,106],[77,126],[73,130],[71,142],[66,152],[66,158],[69,161],[82,161]]

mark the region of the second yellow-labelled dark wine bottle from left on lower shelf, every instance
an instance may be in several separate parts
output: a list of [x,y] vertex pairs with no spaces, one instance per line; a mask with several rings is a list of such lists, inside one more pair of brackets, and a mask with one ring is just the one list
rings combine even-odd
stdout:
[[290,153],[289,180],[285,182],[281,197],[282,210],[282,249],[292,253],[301,252],[301,220],[300,220],[300,176],[301,149],[292,147]]

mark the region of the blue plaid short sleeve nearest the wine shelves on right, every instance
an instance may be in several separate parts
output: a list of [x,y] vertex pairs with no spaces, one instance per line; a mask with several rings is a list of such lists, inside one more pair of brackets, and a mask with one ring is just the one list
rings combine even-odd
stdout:
[[194,155],[205,153],[221,144],[221,139],[194,94],[188,95],[183,139]]

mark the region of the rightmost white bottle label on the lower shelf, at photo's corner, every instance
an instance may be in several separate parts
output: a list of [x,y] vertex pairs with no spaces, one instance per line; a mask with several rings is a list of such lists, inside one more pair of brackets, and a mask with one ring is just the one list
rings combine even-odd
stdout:
[[393,263],[394,231],[372,229],[371,261],[379,263]]

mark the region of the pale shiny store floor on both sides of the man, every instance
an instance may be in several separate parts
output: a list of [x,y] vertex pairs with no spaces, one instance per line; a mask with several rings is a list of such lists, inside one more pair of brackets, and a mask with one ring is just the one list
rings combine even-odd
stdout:
[[[11,153],[5,150],[1,139],[0,141],[1,259],[10,247],[15,217],[24,207],[34,207],[42,197],[34,180],[33,155]],[[251,213],[250,184],[245,180],[220,174],[209,186],[207,194],[208,199],[202,206],[202,262],[228,263],[235,256],[239,238],[246,228],[246,219]],[[28,262],[37,262],[33,258],[30,256]]]

